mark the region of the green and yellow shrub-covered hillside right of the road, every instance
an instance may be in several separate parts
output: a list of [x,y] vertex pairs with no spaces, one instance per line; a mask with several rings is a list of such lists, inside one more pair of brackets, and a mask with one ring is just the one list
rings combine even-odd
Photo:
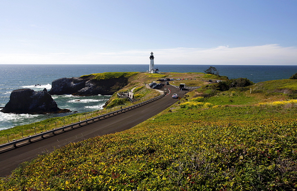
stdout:
[[[206,86],[134,128],[23,163],[0,190],[296,189],[297,101],[250,93],[257,84],[224,92]],[[228,99],[233,105],[217,104]]]

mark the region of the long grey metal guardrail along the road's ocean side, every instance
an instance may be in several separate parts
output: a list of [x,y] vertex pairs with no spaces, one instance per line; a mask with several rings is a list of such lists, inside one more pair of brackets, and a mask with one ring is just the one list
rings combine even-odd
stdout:
[[4,148],[4,147],[9,147],[11,145],[13,145],[14,147],[17,147],[16,144],[21,143],[21,142],[24,142],[24,141],[28,141],[28,142],[31,143],[32,142],[32,139],[36,139],[36,138],[40,138],[40,137],[43,139],[44,136],[45,135],[48,135],[48,134],[55,135],[55,133],[58,133],[58,132],[61,132],[61,131],[64,131],[65,132],[65,129],[69,129],[69,128],[70,129],[71,128],[74,129],[75,126],[82,126],[82,124],[89,124],[88,122],[95,122],[95,120],[100,120],[100,118],[102,118],[102,117],[103,118],[105,118],[106,116],[109,116],[110,117],[110,115],[112,115],[112,114],[116,114],[116,113],[119,113],[119,112],[127,111],[129,109],[133,109],[133,107],[136,108],[138,106],[145,105],[145,104],[147,104],[149,102],[155,101],[155,100],[157,100],[159,98],[162,98],[164,96],[165,96],[165,94],[162,94],[162,95],[157,96],[155,98],[151,98],[149,100],[143,101],[143,102],[141,102],[139,104],[135,104],[135,105],[132,105],[132,106],[129,106],[129,107],[126,107],[126,108],[123,108],[123,109],[119,109],[119,110],[116,110],[116,111],[113,111],[113,112],[110,112],[110,113],[107,113],[107,114],[99,115],[97,117],[92,117],[92,118],[89,118],[89,119],[86,119],[86,120],[83,120],[83,121],[80,121],[80,122],[72,123],[70,125],[65,125],[65,126],[62,126],[62,127],[59,127],[59,128],[54,128],[52,130],[48,130],[46,132],[38,133],[36,135],[28,136],[28,137],[23,138],[23,139],[18,139],[18,140],[9,142],[9,143],[1,144],[0,145],[0,149],[1,148]]

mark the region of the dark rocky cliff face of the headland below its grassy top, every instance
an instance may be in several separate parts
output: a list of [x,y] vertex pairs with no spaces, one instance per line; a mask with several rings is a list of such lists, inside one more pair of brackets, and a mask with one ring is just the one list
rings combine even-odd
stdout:
[[74,96],[113,95],[128,84],[124,77],[95,80],[92,77],[60,78],[52,82],[50,95],[72,94]]

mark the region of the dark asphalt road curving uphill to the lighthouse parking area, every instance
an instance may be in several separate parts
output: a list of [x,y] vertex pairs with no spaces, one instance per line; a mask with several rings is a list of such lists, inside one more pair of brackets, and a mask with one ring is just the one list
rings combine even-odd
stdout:
[[[40,139],[31,144],[26,144],[5,152],[0,151],[0,177],[9,175],[21,162],[31,160],[37,155],[51,152],[54,148],[62,147],[70,142],[78,142],[94,136],[129,129],[153,117],[178,101],[178,99],[172,98],[173,93],[177,93],[182,97],[187,92],[180,91],[173,86],[165,86],[164,88],[167,89],[168,87],[171,90],[169,95],[144,106],[117,114],[113,117],[108,117],[90,125],[69,130],[65,133],[60,133],[46,139]],[[166,91],[169,93],[168,89]]]

